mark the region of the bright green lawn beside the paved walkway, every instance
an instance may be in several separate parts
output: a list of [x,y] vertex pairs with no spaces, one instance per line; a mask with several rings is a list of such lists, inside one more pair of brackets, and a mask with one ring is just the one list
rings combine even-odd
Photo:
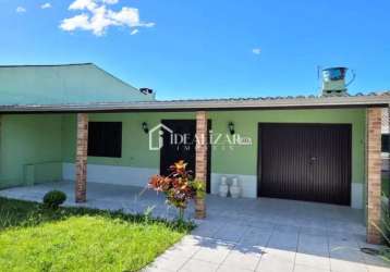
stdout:
[[0,198],[0,271],[138,271],[192,227]]

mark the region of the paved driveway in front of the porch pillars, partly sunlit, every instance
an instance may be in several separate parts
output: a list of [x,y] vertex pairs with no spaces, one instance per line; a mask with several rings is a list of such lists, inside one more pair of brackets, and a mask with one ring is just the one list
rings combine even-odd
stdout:
[[390,271],[362,235],[258,221],[204,222],[146,271]]

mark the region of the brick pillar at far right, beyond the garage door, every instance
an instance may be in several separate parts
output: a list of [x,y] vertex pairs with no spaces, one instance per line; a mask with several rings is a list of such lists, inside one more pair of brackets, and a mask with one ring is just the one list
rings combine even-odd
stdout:
[[379,244],[381,193],[381,114],[380,108],[367,109],[367,242]]

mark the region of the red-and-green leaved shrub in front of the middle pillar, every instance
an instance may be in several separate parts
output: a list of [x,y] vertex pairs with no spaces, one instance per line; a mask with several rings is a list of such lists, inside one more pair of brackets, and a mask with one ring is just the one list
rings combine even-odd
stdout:
[[166,194],[167,202],[179,209],[179,218],[183,220],[184,209],[188,200],[202,194],[202,182],[194,181],[192,171],[186,170],[187,163],[183,160],[175,162],[170,166],[168,176],[154,175],[148,187]]

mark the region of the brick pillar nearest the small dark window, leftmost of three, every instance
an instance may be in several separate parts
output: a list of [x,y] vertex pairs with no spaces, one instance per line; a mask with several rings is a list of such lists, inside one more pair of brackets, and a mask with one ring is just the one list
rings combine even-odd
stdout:
[[77,113],[76,202],[85,202],[87,194],[88,114]]

